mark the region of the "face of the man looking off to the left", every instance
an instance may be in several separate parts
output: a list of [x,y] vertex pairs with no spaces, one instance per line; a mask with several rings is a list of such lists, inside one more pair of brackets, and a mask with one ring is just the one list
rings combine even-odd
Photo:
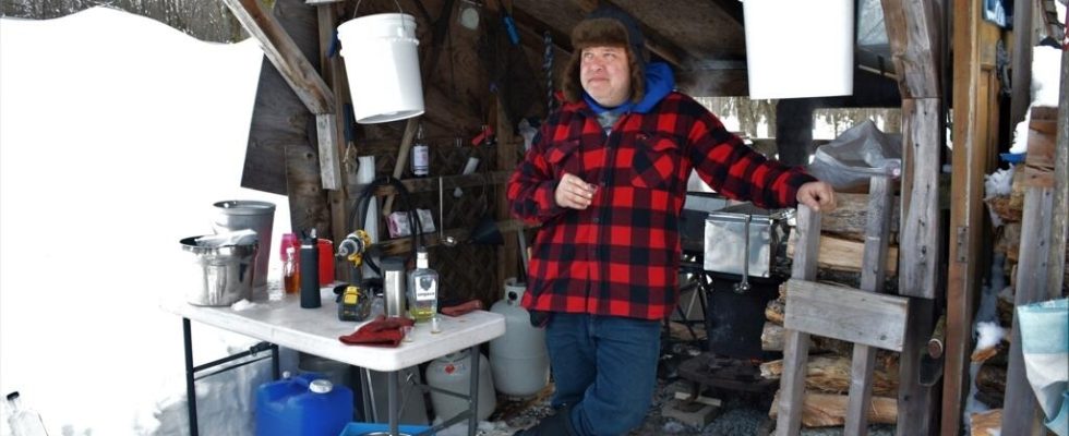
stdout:
[[606,108],[630,96],[630,63],[623,47],[587,47],[580,52],[579,82],[594,101]]

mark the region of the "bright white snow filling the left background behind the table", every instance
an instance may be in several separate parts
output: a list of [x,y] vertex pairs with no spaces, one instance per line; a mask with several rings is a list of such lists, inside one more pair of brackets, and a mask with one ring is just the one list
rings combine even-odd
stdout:
[[[225,199],[274,203],[273,247],[290,227],[285,196],[240,187],[262,59],[106,8],[0,17],[0,393],[50,435],[188,434],[181,318],[158,305],[184,291],[178,241]],[[254,343],[193,336],[196,363]],[[201,427],[251,434],[233,412],[267,366],[199,382]]]

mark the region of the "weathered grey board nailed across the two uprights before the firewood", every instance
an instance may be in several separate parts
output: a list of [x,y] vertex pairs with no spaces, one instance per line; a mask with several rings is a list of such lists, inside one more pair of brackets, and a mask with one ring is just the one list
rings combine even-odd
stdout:
[[786,284],[783,327],[902,351],[906,299],[808,280]]

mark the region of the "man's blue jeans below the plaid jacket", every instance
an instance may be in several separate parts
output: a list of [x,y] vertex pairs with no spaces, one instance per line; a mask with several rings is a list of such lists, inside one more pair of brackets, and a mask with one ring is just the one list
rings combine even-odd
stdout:
[[653,400],[661,325],[657,320],[553,314],[545,328],[556,391],[582,436],[622,435],[641,424]]

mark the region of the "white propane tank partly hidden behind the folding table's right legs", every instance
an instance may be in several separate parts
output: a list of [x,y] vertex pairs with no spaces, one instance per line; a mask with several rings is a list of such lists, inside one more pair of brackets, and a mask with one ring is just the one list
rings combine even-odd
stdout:
[[[471,392],[470,352],[465,349],[431,361],[427,366],[427,384],[434,388],[469,395]],[[468,400],[432,390],[431,405],[434,407],[434,414],[444,421],[468,410]],[[494,382],[490,376],[490,362],[480,353],[477,411],[479,421],[487,421],[496,407],[497,397],[494,395]]]

